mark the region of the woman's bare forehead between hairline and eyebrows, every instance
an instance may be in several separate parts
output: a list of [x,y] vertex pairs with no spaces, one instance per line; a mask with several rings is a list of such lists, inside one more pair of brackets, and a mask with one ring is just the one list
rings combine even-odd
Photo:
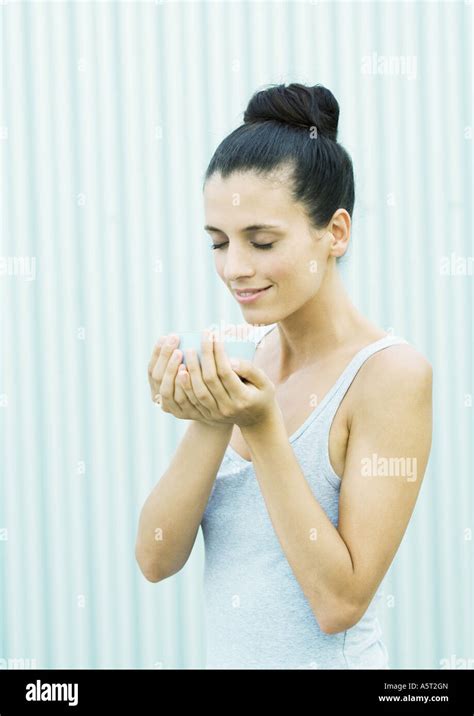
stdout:
[[[258,175],[255,172],[234,172],[225,179],[213,174],[204,186],[206,222],[215,226],[229,224],[231,216],[240,221],[273,219],[288,220],[298,209],[291,197],[288,175],[279,171]],[[229,214],[232,210],[232,214]]]

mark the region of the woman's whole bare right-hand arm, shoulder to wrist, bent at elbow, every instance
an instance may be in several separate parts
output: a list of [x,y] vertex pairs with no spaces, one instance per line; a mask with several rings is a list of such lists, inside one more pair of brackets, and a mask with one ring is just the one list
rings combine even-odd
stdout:
[[[328,634],[350,628],[365,613],[408,525],[431,447],[430,364],[405,346],[367,363],[337,528],[314,498],[281,417],[242,429],[277,537]],[[366,474],[374,454],[382,467]],[[393,471],[384,470],[387,459],[396,463]],[[400,462],[409,465],[406,474]]]

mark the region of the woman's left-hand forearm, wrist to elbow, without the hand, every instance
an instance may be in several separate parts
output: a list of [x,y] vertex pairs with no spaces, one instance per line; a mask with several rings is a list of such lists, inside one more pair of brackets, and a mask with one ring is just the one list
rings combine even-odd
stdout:
[[150,581],[165,579],[186,563],[232,428],[192,421],[143,505],[135,554]]

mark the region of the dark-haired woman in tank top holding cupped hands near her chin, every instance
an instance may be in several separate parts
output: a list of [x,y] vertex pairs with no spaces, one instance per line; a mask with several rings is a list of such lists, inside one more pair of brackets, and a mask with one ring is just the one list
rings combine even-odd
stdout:
[[354,178],[338,117],[322,86],[270,86],[207,169],[217,273],[268,327],[254,361],[203,335],[186,369],[175,336],[149,365],[152,397],[191,423],[136,555],[165,579],[201,525],[207,668],[388,668],[376,606],[429,457],[432,368],[339,276]]

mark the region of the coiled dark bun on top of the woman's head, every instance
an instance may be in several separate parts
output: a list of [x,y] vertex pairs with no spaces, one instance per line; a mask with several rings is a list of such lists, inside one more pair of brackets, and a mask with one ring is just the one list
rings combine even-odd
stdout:
[[337,141],[339,104],[322,85],[270,85],[256,92],[244,112],[244,122],[275,120],[294,127],[316,127],[318,134]]

